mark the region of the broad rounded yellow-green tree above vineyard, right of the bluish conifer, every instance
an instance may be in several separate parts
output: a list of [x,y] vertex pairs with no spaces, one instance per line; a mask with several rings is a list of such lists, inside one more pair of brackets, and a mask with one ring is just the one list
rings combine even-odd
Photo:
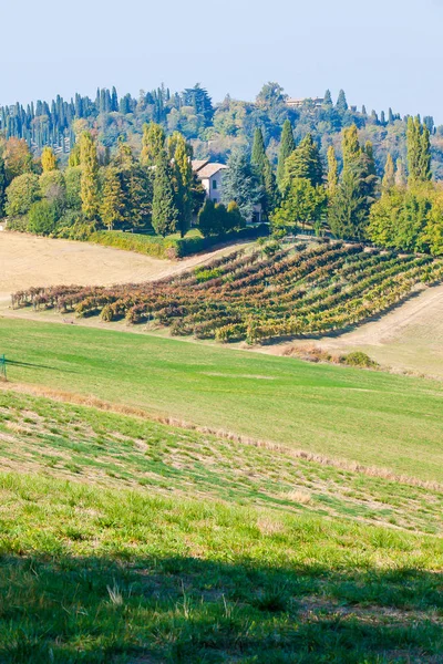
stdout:
[[324,212],[326,193],[307,178],[292,178],[287,194],[272,215],[272,228],[288,228],[319,221]]

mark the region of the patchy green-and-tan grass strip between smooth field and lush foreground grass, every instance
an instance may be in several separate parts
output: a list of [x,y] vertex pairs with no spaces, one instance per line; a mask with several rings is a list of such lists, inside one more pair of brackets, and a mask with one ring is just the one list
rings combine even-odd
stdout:
[[14,392],[0,391],[0,463],[3,470],[143,488],[148,495],[443,531],[443,489]]

